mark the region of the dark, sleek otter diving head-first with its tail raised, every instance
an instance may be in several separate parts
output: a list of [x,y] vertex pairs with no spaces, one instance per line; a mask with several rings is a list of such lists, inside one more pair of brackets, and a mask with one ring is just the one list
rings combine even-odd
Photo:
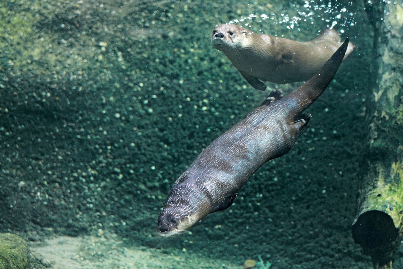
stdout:
[[158,234],[179,234],[208,214],[228,208],[264,163],[293,147],[311,118],[303,111],[332,81],[348,43],[347,37],[314,77],[286,97],[272,91],[260,107],[197,156],[172,186],[158,216]]

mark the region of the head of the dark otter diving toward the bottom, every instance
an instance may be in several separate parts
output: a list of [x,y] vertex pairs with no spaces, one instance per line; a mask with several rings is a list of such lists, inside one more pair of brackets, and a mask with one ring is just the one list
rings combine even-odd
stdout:
[[158,215],[157,232],[160,236],[173,236],[186,232],[199,221],[191,211],[179,206],[165,206]]

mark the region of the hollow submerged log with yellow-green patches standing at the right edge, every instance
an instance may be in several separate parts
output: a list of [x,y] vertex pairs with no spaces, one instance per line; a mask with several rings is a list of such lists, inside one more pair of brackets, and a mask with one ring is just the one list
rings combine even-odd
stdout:
[[374,26],[374,95],[352,234],[375,269],[392,268],[403,232],[403,4],[365,1]]

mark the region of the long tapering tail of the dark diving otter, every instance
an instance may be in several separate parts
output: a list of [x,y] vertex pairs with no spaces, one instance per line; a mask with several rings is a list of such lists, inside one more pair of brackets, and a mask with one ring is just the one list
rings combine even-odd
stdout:
[[324,66],[320,68],[318,73],[284,98],[288,99],[287,101],[290,102],[290,106],[294,107],[291,111],[293,114],[295,113],[295,116],[301,115],[301,113],[318,99],[318,97],[328,87],[343,61],[348,45],[349,37],[346,38],[343,45],[334,52],[333,56],[324,64]]

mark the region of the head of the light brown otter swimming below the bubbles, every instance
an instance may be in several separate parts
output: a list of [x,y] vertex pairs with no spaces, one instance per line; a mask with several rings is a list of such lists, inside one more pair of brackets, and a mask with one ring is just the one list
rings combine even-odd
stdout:
[[214,28],[211,35],[213,47],[222,52],[248,46],[247,35],[252,32],[238,25],[222,24]]

